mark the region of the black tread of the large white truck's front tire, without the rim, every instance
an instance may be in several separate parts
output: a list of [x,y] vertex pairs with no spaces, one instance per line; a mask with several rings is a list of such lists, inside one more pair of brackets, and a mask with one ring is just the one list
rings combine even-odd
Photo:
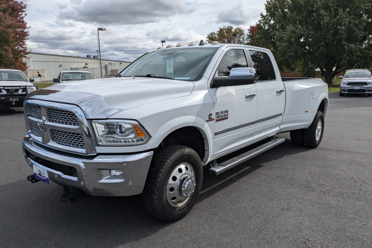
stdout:
[[[151,161],[142,197],[148,212],[152,216],[160,220],[172,222],[180,219],[180,217],[172,218],[165,214],[160,204],[161,191],[158,189],[161,188],[162,186],[162,182],[164,180],[164,177],[162,177],[162,175],[166,174],[166,170],[168,169],[168,163],[185,153],[190,153],[196,158],[198,158],[199,163],[201,165],[199,155],[193,149],[183,145],[166,146],[159,152],[155,153]],[[202,170],[201,173],[203,173]],[[202,182],[200,182],[200,184],[201,183]],[[186,212],[183,216],[185,216],[187,213],[188,212]]]

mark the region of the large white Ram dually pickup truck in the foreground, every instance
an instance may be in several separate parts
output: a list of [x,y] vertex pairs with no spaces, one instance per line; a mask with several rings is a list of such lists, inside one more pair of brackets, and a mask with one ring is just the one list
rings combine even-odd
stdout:
[[140,194],[164,221],[185,216],[204,171],[219,175],[284,142],[316,147],[328,89],[281,78],[267,49],[178,44],[150,52],[115,78],[57,84],[24,105],[28,180],[53,181],[71,203]]

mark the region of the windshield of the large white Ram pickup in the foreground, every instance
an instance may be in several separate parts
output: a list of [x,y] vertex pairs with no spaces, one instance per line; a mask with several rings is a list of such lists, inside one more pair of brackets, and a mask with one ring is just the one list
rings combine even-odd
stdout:
[[218,48],[179,48],[144,55],[131,63],[118,76],[170,77],[199,80]]

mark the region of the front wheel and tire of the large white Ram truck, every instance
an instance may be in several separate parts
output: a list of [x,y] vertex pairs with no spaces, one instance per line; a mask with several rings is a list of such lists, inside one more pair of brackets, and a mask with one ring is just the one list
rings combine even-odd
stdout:
[[151,161],[143,202],[154,217],[176,221],[191,210],[202,182],[203,167],[198,154],[183,145],[169,145]]

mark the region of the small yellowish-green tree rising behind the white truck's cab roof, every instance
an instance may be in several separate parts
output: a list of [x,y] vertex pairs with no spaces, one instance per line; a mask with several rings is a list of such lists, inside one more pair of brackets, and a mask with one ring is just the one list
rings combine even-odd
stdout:
[[207,42],[212,43],[213,41],[218,41],[219,43],[235,43],[236,36],[233,34],[238,34],[238,44],[244,44],[246,41],[246,34],[241,27],[234,28],[233,26],[222,26],[218,28],[217,32],[211,32],[207,35]]

